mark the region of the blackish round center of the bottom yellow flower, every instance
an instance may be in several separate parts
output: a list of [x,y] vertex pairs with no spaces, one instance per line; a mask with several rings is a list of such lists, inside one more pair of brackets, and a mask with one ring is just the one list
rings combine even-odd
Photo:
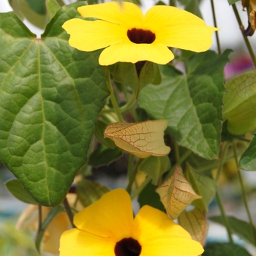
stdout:
[[133,238],[124,238],[118,241],[115,246],[116,256],[139,256],[141,246],[139,242]]

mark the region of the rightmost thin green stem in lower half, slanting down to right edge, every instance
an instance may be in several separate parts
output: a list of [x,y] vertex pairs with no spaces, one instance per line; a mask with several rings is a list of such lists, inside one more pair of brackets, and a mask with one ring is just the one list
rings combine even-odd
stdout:
[[233,152],[234,152],[234,157],[236,159],[236,166],[238,168],[238,180],[239,180],[239,183],[241,185],[241,190],[242,190],[242,197],[243,197],[243,200],[244,200],[244,206],[245,206],[245,209],[246,209],[246,214],[248,216],[248,219],[249,219],[249,223],[252,227],[252,233],[254,234],[254,238],[255,238],[255,245],[256,245],[256,234],[254,232],[255,230],[255,225],[253,224],[253,221],[252,221],[252,215],[249,211],[249,205],[248,205],[248,202],[247,202],[247,199],[246,199],[246,191],[244,189],[244,181],[243,181],[243,178],[241,176],[241,170],[239,169],[239,164],[238,164],[238,154],[236,152],[236,145],[235,145],[235,142],[233,141]]

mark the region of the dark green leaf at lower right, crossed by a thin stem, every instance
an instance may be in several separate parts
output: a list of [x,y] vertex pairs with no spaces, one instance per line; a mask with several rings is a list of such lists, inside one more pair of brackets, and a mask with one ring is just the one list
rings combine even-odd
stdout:
[[[211,217],[210,220],[225,226],[221,216]],[[248,222],[244,222],[244,220],[241,219],[236,219],[235,217],[227,217],[227,221],[230,225],[232,233],[244,238],[244,240],[248,241],[250,244],[255,245],[254,233],[256,235],[256,230],[252,229]]]

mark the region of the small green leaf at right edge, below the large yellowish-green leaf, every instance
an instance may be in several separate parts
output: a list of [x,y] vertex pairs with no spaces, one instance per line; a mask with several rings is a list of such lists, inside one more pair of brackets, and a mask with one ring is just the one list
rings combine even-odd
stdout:
[[239,166],[243,170],[256,170],[256,136],[254,135],[249,147],[241,155]]

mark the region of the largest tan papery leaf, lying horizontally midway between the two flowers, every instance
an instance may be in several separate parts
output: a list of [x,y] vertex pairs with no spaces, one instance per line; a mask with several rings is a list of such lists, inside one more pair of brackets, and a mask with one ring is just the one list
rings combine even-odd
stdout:
[[135,124],[113,123],[105,129],[104,137],[116,146],[140,158],[166,156],[170,147],[165,146],[166,120],[143,121]]

